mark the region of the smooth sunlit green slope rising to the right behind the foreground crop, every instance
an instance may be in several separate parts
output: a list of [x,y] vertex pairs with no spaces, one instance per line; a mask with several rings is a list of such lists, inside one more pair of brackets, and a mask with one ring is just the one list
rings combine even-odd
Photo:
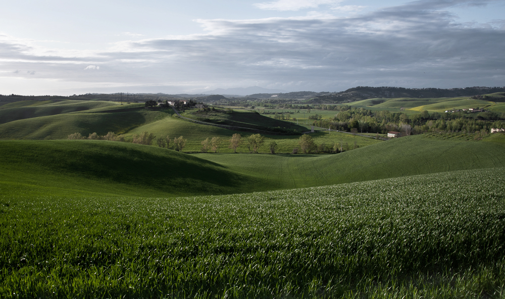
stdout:
[[442,140],[415,135],[338,155],[197,154],[278,188],[323,186],[453,170],[505,166],[505,136],[484,140]]

